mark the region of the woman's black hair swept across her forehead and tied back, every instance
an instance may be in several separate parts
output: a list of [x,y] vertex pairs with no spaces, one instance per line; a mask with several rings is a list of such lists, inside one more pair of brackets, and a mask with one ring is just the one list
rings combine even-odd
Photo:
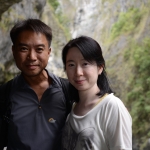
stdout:
[[103,96],[105,93],[112,93],[110,88],[107,74],[105,60],[102,55],[100,45],[92,38],[87,36],[80,36],[78,38],[70,40],[62,50],[62,60],[64,64],[64,70],[66,70],[66,56],[70,48],[76,47],[80,50],[85,60],[88,62],[96,62],[97,66],[103,67],[102,73],[98,76],[97,85],[100,92],[98,96]]

